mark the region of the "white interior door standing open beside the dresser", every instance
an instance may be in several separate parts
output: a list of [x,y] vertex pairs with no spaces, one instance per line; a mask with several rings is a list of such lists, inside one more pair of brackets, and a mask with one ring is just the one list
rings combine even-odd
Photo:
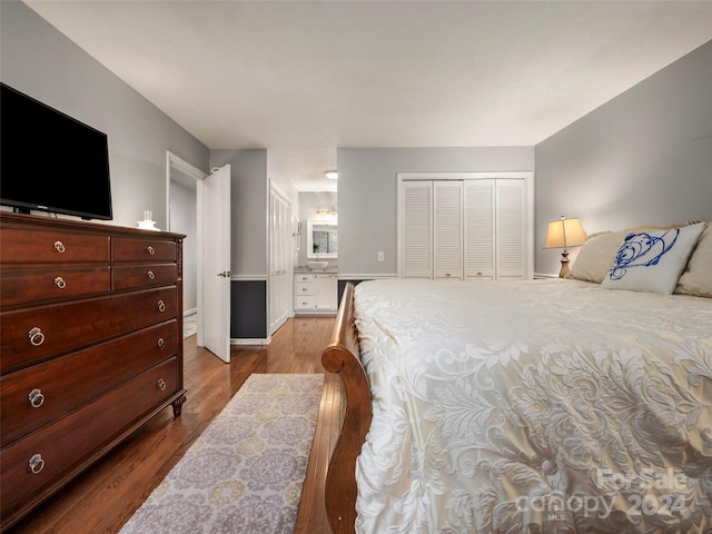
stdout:
[[202,345],[230,362],[230,166],[202,180]]

